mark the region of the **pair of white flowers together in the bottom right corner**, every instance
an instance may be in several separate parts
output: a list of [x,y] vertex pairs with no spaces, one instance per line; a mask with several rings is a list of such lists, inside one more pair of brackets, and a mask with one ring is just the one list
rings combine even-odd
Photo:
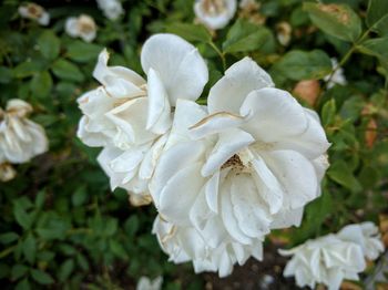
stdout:
[[365,259],[375,260],[384,251],[378,228],[372,222],[349,225],[290,250],[279,250],[293,256],[284,276],[295,276],[299,287],[315,289],[324,283],[329,290],[339,289],[344,279],[358,280],[366,268]]

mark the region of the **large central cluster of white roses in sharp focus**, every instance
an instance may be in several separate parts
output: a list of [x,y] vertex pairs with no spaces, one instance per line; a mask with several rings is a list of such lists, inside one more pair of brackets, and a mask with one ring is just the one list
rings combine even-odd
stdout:
[[156,206],[153,232],[174,262],[218,271],[251,256],[265,236],[298,226],[320,194],[329,147],[316,113],[302,107],[253,60],[233,64],[195,103],[208,80],[198,51],[173,34],[143,45],[147,80],[100,54],[101,86],[79,99],[78,136],[103,147],[112,189]]

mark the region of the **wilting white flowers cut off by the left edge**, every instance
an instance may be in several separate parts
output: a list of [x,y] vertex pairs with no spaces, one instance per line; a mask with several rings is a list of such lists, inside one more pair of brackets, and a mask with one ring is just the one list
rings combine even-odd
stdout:
[[0,180],[14,177],[10,164],[29,162],[32,157],[48,151],[48,139],[42,126],[28,120],[32,112],[30,104],[22,100],[8,101],[0,108]]

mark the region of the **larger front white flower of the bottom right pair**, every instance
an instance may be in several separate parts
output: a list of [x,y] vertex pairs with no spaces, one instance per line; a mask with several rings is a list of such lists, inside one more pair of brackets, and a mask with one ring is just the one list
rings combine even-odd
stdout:
[[361,247],[335,235],[308,240],[279,253],[293,256],[284,276],[295,276],[297,286],[312,289],[316,283],[324,283],[329,290],[339,289],[344,279],[358,280],[358,273],[366,268]]

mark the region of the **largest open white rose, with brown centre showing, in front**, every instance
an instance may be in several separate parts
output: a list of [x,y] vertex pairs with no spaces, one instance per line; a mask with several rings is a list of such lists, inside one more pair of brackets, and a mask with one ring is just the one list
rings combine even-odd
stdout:
[[245,58],[211,89],[207,112],[187,101],[175,108],[150,191],[165,220],[194,227],[207,248],[251,249],[272,228],[298,226],[320,194],[329,143],[319,118],[272,86]]

